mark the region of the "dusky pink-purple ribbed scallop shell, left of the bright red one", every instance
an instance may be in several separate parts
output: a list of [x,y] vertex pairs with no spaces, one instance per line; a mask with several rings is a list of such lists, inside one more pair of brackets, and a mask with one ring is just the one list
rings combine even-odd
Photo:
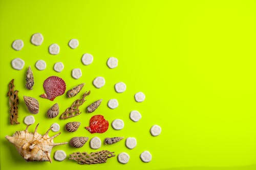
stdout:
[[66,83],[63,79],[57,76],[51,76],[44,82],[45,94],[41,94],[41,98],[53,101],[57,96],[65,93]]

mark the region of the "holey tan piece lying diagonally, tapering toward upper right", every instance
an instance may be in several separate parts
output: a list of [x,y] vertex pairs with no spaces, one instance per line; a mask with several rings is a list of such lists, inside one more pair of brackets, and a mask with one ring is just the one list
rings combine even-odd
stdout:
[[78,99],[76,100],[72,105],[71,107],[67,108],[65,110],[65,112],[63,112],[61,115],[60,115],[60,119],[67,119],[67,118],[70,118],[70,117],[74,117],[74,116],[77,116],[79,114],[81,114],[80,110],[79,110],[79,106],[81,106],[86,100],[84,98],[86,98],[87,95],[90,94],[91,91],[89,92],[85,92],[83,95],[82,95],[82,99]]

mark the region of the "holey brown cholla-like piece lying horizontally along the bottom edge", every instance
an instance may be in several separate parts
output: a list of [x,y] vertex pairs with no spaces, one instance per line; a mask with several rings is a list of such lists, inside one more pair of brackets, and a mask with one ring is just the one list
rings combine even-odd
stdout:
[[75,160],[79,164],[97,164],[97,163],[105,163],[108,158],[114,157],[115,152],[110,151],[99,151],[99,152],[91,152],[88,154],[87,152],[75,152],[70,154],[69,159]]

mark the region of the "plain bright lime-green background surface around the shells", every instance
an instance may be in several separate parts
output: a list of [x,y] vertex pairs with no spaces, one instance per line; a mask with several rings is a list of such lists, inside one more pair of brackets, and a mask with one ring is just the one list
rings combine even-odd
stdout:
[[[1,169],[255,169],[256,168],[256,4],[255,1],[0,1],[0,59],[1,59]],[[40,46],[30,43],[31,35],[41,33]],[[72,50],[68,42],[79,40]],[[12,49],[15,39],[25,43],[21,51]],[[57,43],[58,55],[50,55],[48,46]],[[91,65],[84,66],[81,56],[94,56]],[[14,70],[11,60],[22,58],[25,67]],[[106,66],[109,57],[116,57],[115,69]],[[42,59],[47,63],[39,71],[34,64]],[[55,62],[65,65],[62,72],[53,70]],[[35,85],[25,88],[25,73],[31,65]],[[82,77],[71,77],[73,68],[81,68]],[[74,98],[65,95],[53,102],[39,98],[44,92],[42,83],[49,76],[66,81],[67,90],[82,82],[82,92]],[[102,76],[105,86],[96,89],[95,77]],[[19,90],[19,125],[9,125],[8,83],[14,80]],[[114,84],[124,82],[127,90],[116,93]],[[66,120],[49,119],[47,110],[55,103],[60,113],[84,91],[91,90],[82,114]],[[146,99],[136,103],[134,94],[143,91]],[[116,155],[130,155],[127,164],[117,157],[97,165],[79,165],[72,160],[58,162],[26,162],[4,137],[24,130],[23,119],[31,115],[23,95],[40,103],[34,115],[40,123],[40,134],[52,125],[61,126],[55,142],[69,141],[74,136],[136,137],[137,147],[129,150],[125,140],[114,145],[102,145],[99,150],[114,151]],[[101,106],[92,114],[86,107],[98,99]],[[119,107],[107,107],[110,99],[117,99]],[[142,119],[134,123],[129,118],[138,110]],[[84,129],[92,115],[102,114],[111,123],[124,120],[124,129],[111,126],[106,133],[90,134]],[[68,133],[68,122],[81,122],[80,128]],[[161,135],[150,134],[152,125],[162,127]],[[29,127],[33,131],[35,125]],[[50,132],[50,136],[55,133]],[[94,152],[87,142],[74,149],[68,144],[53,149],[67,155],[76,151]],[[152,153],[150,163],[143,163],[139,155]]]

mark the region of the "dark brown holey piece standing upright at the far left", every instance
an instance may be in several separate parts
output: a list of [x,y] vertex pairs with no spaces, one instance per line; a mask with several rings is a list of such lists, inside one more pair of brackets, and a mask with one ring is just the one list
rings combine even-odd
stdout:
[[9,106],[10,106],[10,124],[19,124],[18,122],[18,90],[14,90],[14,79],[9,83],[9,91],[7,96],[9,96]]

